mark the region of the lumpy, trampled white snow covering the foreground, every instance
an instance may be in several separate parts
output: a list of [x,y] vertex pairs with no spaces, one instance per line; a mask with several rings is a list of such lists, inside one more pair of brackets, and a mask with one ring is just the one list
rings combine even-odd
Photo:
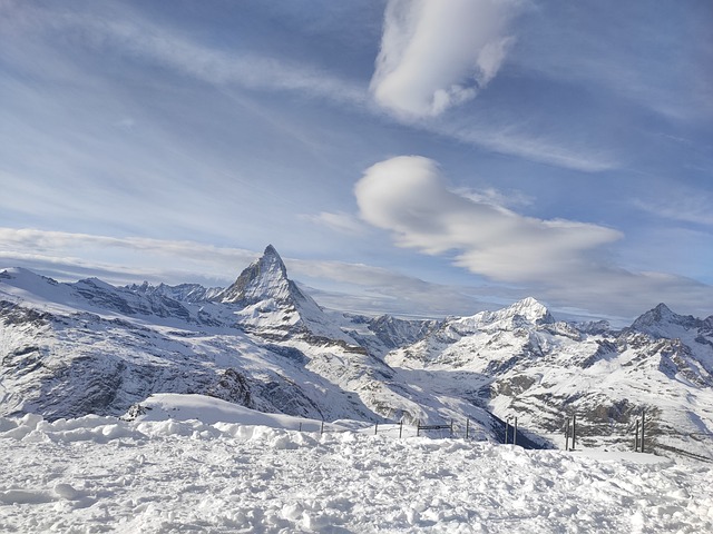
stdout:
[[706,464],[143,405],[136,421],[0,418],[0,532],[713,532]]

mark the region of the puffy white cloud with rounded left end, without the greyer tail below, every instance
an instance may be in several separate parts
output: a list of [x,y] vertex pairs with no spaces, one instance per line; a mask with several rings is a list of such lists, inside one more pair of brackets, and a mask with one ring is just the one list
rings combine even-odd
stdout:
[[524,217],[492,199],[447,187],[434,161],[404,156],[369,168],[355,187],[361,215],[399,246],[456,251],[456,263],[507,283],[544,281],[587,268],[589,255],[622,235],[584,222]]

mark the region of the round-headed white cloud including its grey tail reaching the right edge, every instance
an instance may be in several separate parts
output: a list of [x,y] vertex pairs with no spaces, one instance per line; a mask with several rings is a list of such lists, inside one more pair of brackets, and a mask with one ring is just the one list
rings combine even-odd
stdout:
[[[355,186],[361,216],[392,233],[398,246],[452,256],[473,274],[518,286],[555,307],[635,317],[660,301],[683,313],[711,313],[713,287],[678,275],[631,271],[612,265],[614,229],[525,217],[498,205],[497,195],[449,189],[437,164],[402,156],[377,164]],[[482,291],[480,291],[482,295]]]

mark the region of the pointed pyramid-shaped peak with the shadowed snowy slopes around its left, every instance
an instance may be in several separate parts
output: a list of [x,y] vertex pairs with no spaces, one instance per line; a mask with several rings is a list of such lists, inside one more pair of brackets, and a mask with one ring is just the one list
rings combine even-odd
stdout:
[[[0,415],[121,415],[153,393],[197,393],[326,421],[469,416],[473,432],[501,432],[484,407],[436,402],[342,330],[287,278],[273,247],[228,288],[186,288],[60,284],[23,269],[2,271]],[[389,337],[369,330],[363,317],[341,322],[367,324],[361,339],[372,344],[413,342],[419,332],[402,323]],[[399,324],[374,322],[387,323]]]

